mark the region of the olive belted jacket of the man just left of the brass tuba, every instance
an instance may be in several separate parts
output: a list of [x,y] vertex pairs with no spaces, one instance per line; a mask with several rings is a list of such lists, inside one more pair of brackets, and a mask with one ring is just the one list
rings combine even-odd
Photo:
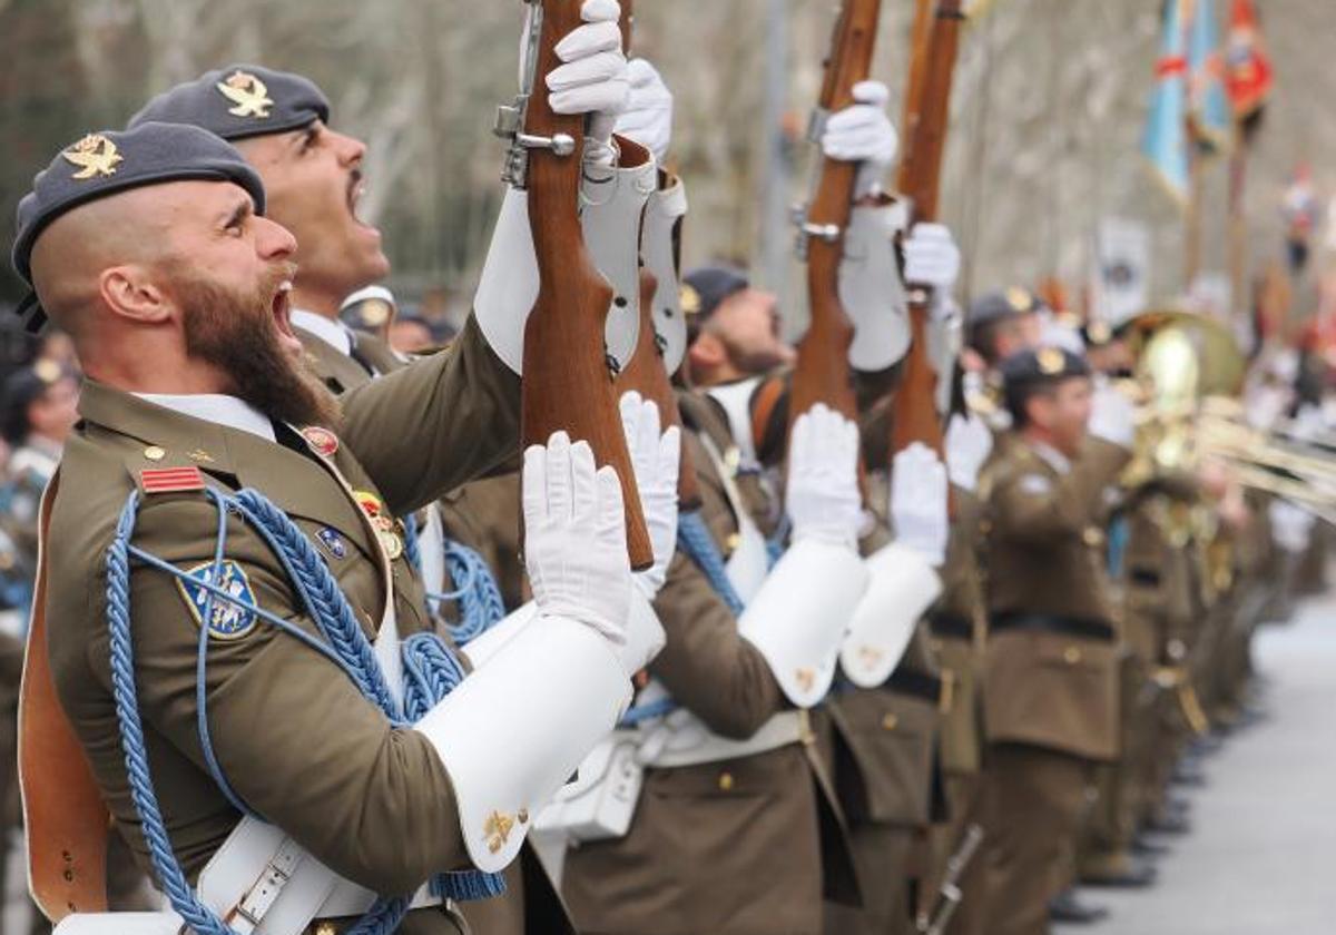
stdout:
[[1063,467],[1007,431],[983,466],[990,741],[1118,755],[1120,626],[1102,529],[1130,454],[1090,439]]

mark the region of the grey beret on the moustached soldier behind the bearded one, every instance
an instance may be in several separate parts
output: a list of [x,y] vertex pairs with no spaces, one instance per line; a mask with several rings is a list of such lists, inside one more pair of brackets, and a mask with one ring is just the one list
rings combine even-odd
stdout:
[[227,65],[204,72],[150,100],[130,118],[130,127],[147,120],[190,123],[224,140],[301,130],[329,120],[330,103],[315,83],[261,65]]

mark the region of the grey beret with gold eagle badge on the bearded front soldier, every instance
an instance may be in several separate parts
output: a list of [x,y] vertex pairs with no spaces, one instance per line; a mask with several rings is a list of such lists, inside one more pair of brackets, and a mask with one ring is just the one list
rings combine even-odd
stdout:
[[[122,132],[88,134],[65,147],[32,180],[32,191],[19,202],[17,235],[11,259],[23,280],[32,283],[32,247],[47,226],[80,204],[163,182],[204,179],[232,182],[265,212],[265,186],[250,163],[231,144],[198,127],[143,123]],[[36,297],[19,305],[33,313],[29,327],[45,318]]]

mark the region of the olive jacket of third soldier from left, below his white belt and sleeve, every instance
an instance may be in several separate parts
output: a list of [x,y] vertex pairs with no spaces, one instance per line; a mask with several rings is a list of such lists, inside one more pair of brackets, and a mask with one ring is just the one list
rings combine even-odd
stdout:
[[[680,397],[701,513],[727,557],[737,533],[723,481],[693,430],[731,447],[705,401]],[[760,653],[692,560],[679,552],[655,600],[667,645],[651,673],[725,737],[755,733],[787,707]],[[625,837],[572,850],[562,891],[584,934],[815,935],[822,895],[852,899],[838,813],[811,747],[647,769]]]

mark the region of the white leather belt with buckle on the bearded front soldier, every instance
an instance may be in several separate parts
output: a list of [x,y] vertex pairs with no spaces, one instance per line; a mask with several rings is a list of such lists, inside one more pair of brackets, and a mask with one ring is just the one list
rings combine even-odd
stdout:
[[[362,915],[370,890],[322,864],[282,829],[246,817],[199,876],[199,898],[238,935],[299,935],[313,919]],[[410,908],[445,900],[422,886]]]

